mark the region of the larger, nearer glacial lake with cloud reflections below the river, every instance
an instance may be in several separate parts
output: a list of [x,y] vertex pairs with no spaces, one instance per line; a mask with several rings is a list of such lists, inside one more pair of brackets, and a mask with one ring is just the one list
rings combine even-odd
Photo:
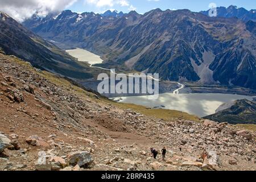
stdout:
[[184,111],[185,113],[194,114],[198,117],[214,114],[216,109],[226,102],[245,98],[250,101],[253,100],[253,97],[250,96],[219,93],[163,93],[159,94],[159,98],[157,100],[150,100],[150,97],[152,96],[116,97],[112,99],[118,102],[143,105],[151,108],[155,107]]

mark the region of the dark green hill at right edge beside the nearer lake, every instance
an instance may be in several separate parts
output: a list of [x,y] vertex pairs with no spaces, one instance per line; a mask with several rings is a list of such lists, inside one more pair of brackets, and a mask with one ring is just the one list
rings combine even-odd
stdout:
[[232,124],[250,123],[256,124],[256,102],[238,100],[232,104],[220,106],[216,114],[204,117],[217,122],[229,122]]

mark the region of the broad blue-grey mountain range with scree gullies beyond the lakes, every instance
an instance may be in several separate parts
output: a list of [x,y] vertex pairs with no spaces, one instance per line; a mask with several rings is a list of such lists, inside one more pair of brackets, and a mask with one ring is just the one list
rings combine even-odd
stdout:
[[63,11],[28,28],[63,48],[85,48],[105,67],[159,73],[162,80],[256,88],[254,24],[189,10],[135,11],[122,18]]

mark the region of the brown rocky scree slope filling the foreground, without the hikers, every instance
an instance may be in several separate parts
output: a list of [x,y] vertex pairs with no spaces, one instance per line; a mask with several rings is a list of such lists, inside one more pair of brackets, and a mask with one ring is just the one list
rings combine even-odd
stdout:
[[148,117],[14,56],[0,54],[0,102],[0,170],[256,170],[253,132]]

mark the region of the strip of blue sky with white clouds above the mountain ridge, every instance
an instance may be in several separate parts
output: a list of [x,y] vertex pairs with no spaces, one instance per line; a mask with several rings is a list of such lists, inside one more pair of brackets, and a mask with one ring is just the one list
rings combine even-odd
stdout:
[[96,13],[102,13],[108,9],[115,9],[125,13],[130,10],[136,10],[138,13],[143,14],[158,7],[162,10],[208,10],[210,3],[225,7],[236,5],[245,7],[247,10],[256,9],[255,0],[77,0],[67,9],[76,12],[94,11]]

